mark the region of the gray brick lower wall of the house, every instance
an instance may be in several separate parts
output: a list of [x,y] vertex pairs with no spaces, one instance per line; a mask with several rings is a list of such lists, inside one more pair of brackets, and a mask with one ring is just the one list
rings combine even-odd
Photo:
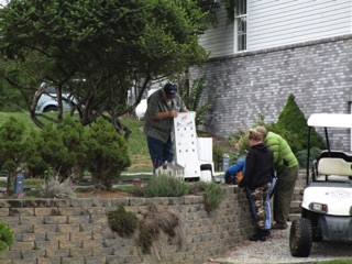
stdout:
[[[290,94],[308,118],[314,112],[350,113],[352,98],[352,34],[211,58],[191,69],[206,75],[208,132],[228,136],[255,124],[276,122]],[[332,147],[350,150],[350,131]]]

